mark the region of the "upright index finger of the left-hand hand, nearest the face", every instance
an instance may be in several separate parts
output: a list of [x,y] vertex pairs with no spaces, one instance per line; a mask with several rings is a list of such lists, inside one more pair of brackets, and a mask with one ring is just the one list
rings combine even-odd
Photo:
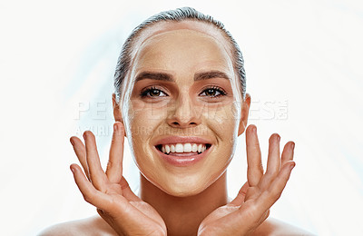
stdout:
[[123,141],[123,123],[114,123],[110,159],[106,170],[106,174],[110,182],[120,182],[123,177]]

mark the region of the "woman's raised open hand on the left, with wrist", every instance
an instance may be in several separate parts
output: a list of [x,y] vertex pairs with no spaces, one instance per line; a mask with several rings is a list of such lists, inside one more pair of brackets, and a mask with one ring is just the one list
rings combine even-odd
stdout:
[[107,171],[103,172],[92,132],[83,133],[84,143],[71,138],[74,152],[83,166],[71,165],[74,181],[86,202],[119,235],[166,235],[162,217],[151,205],[136,196],[123,178],[123,123],[114,123]]

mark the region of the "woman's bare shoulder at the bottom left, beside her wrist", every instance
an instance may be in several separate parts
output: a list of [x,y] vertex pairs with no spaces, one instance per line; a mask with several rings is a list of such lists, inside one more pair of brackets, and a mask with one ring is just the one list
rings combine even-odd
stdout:
[[38,236],[95,236],[105,235],[113,236],[117,235],[115,231],[105,222],[103,219],[96,215],[90,218],[86,218],[78,221],[68,221],[64,223],[55,224],[44,231],[41,231]]

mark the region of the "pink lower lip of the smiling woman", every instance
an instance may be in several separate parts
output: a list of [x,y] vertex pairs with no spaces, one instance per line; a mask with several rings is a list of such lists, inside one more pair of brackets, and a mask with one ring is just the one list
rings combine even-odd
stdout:
[[[201,154],[196,154],[196,155],[185,155],[185,156],[174,156],[174,155],[167,155],[164,152],[161,152],[159,149],[157,149],[154,146],[154,149],[156,150],[156,152],[158,152],[158,154],[162,157],[163,160],[165,160],[166,162],[174,165],[174,166],[190,166],[195,164],[196,162],[201,161],[201,159],[203,159],[206,155],[208,155],[211,152],[211,148],[213,147],[213,145],[210,146],[210,148],[208,148],[206,151],[201,152]],[[190,152],[186,152],[186,153],[190,153]]]

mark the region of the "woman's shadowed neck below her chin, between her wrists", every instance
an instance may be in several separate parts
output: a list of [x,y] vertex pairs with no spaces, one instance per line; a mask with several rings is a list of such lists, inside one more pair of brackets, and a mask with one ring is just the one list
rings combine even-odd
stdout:
[[169,195],[140,174],[140,196],[162,216],[168,235],[197,235],[201,221],[211,211],[228,203],[226,174],[224,172],[203,192],[189,197]]

